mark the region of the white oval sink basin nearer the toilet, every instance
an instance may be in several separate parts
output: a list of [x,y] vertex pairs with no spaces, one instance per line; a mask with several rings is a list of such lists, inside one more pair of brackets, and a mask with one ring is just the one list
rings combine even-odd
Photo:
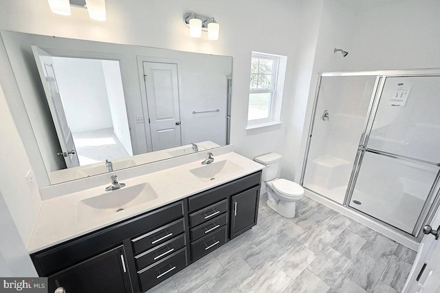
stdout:
[[223,160],[191,169],[190,173],[199,178],[199,180],[205,182],[216,180],[219,177],[230,175],[236,171],[241,171],[242,169],[243,168],[241,166],[231,162],[230,160]]

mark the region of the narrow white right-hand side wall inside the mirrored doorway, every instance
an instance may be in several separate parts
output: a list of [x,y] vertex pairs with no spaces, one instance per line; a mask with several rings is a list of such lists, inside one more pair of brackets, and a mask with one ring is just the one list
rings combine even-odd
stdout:
[[113,121],[113,133],[129,155],[133,155],[131,148],[129,120],[126,114],[124,88],[120,64],[118,61],[102,60],[107,98],[110,105],[111,120]]

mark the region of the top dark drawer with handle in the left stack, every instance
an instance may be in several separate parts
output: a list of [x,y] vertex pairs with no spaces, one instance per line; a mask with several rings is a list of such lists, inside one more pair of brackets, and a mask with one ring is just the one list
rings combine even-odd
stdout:
[[185,221],[183,218],[173,221],[173,223],[162,226],[156,230],[141,235],[140,237],[132,239],[131,242],[133,243],[133,252],[135,255],[139,254],[140,252],[144,252],[153,246],[157,246],[165,241],[170,240],[184,231]]

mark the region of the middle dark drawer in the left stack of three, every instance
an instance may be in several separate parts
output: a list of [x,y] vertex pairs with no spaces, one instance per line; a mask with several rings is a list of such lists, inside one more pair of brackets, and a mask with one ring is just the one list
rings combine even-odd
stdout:
[[135,257],[136,268],[137,270],[142,270],[143,268],[148,267],[148,265],[152,265],[156,261],[160,261],[180,248],[186,246],[185,235],[182,234],[174,239],[166,241],[159,246],[155,246],[151,250],[147,250],[146,252],[139,254]]

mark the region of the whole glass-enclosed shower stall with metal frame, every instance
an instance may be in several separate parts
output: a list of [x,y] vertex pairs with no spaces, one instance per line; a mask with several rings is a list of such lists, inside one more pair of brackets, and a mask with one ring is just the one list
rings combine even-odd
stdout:
[[321,74],[300,184],[415,241],[439,206],[440,70]]

